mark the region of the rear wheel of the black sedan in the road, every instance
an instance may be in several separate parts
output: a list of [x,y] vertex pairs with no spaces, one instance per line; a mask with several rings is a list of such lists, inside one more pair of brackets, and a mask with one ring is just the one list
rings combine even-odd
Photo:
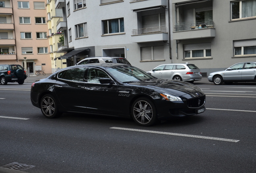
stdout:
[[44,95],[40,102],[43,115],[47,118],[55,118],[61,115],[54,97],[50,94]]

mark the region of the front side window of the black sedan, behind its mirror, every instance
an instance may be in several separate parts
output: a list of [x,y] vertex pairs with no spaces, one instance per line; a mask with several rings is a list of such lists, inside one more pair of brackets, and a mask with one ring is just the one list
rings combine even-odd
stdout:
[[103,70],[98,68],[89,68],[87,70],[87,82],[100,83],[100,78],[109,78],[109,76]]

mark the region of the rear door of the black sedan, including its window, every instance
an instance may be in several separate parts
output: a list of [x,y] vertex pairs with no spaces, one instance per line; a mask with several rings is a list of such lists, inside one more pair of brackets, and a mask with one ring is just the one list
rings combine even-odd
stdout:
[[86,68],[71,68],[58,73],[54,84],[56,97],[66,109],[86,111],[84,75]]

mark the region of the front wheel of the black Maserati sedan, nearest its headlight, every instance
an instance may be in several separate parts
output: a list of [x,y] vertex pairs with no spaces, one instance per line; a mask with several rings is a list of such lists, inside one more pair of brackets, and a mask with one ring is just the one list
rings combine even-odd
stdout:
[[138,98],[132,104],[132,119],[141,126],[151,126],[157,121],[157,109],[146,97]]

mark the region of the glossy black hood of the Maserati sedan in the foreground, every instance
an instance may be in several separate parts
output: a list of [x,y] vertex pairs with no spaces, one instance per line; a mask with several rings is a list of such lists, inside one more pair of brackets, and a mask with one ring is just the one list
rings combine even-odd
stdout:
[[190,94],[192,95],[192,97],[204,95],[202,90],[196,85],[177,80],[155,78],[150,80],[131,82],[129,84],[145,86],[151,89],[157,89],[161,93],[165,92],[178,97],[186,94]]

